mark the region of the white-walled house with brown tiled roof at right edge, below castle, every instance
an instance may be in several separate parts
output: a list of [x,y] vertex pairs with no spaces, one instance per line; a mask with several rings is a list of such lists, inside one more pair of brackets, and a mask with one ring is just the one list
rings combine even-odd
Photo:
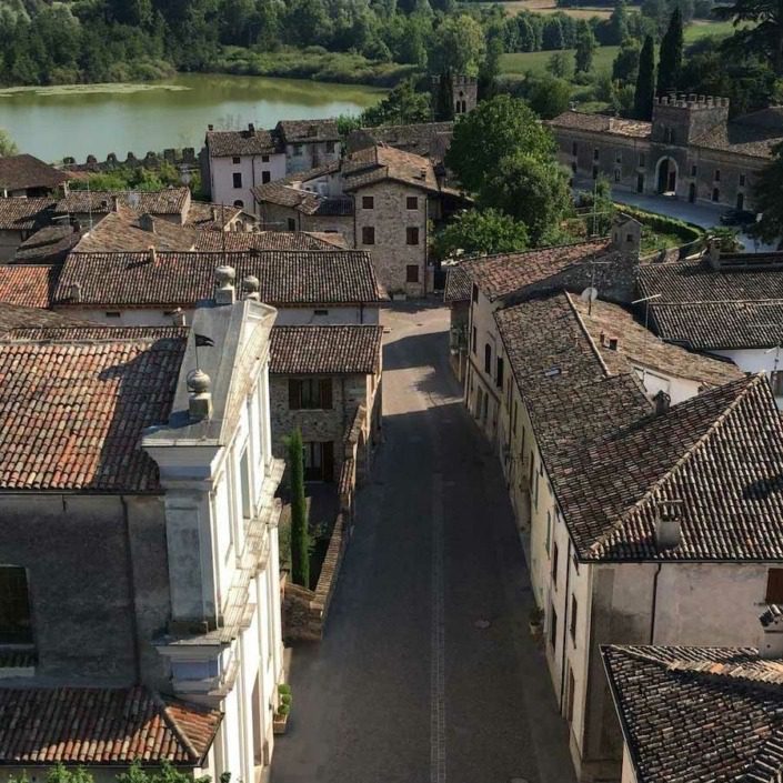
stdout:
[[722,253],[640,268],[638,315],[666,342],[764,372],[783,406],[783,253]]

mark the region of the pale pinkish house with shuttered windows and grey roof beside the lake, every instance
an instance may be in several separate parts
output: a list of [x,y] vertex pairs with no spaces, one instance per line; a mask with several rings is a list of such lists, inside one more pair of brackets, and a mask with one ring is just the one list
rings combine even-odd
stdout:
[[334,120],[281,121],[273,130],[207,131],[201,152],[202,181],[210,198],[253,211],[253,189],[297,171],[340,160],[341,142]]

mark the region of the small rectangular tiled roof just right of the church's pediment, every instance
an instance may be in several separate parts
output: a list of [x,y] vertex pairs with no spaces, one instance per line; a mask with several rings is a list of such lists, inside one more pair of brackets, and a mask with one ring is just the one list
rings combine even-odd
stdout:
[[269,371],[277,375],[378,372],[383,329],[371,325],[274,327]]

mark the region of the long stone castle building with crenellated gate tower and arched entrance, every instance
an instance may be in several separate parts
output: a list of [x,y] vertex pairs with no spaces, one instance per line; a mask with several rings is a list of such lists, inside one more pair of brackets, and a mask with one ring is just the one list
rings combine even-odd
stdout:
[[729,119],[729,99],[666,96],[652,122],[566,111],[550,121],[560,161],[615,188],[753,209],[753,182],[783,141],[783,109]]

